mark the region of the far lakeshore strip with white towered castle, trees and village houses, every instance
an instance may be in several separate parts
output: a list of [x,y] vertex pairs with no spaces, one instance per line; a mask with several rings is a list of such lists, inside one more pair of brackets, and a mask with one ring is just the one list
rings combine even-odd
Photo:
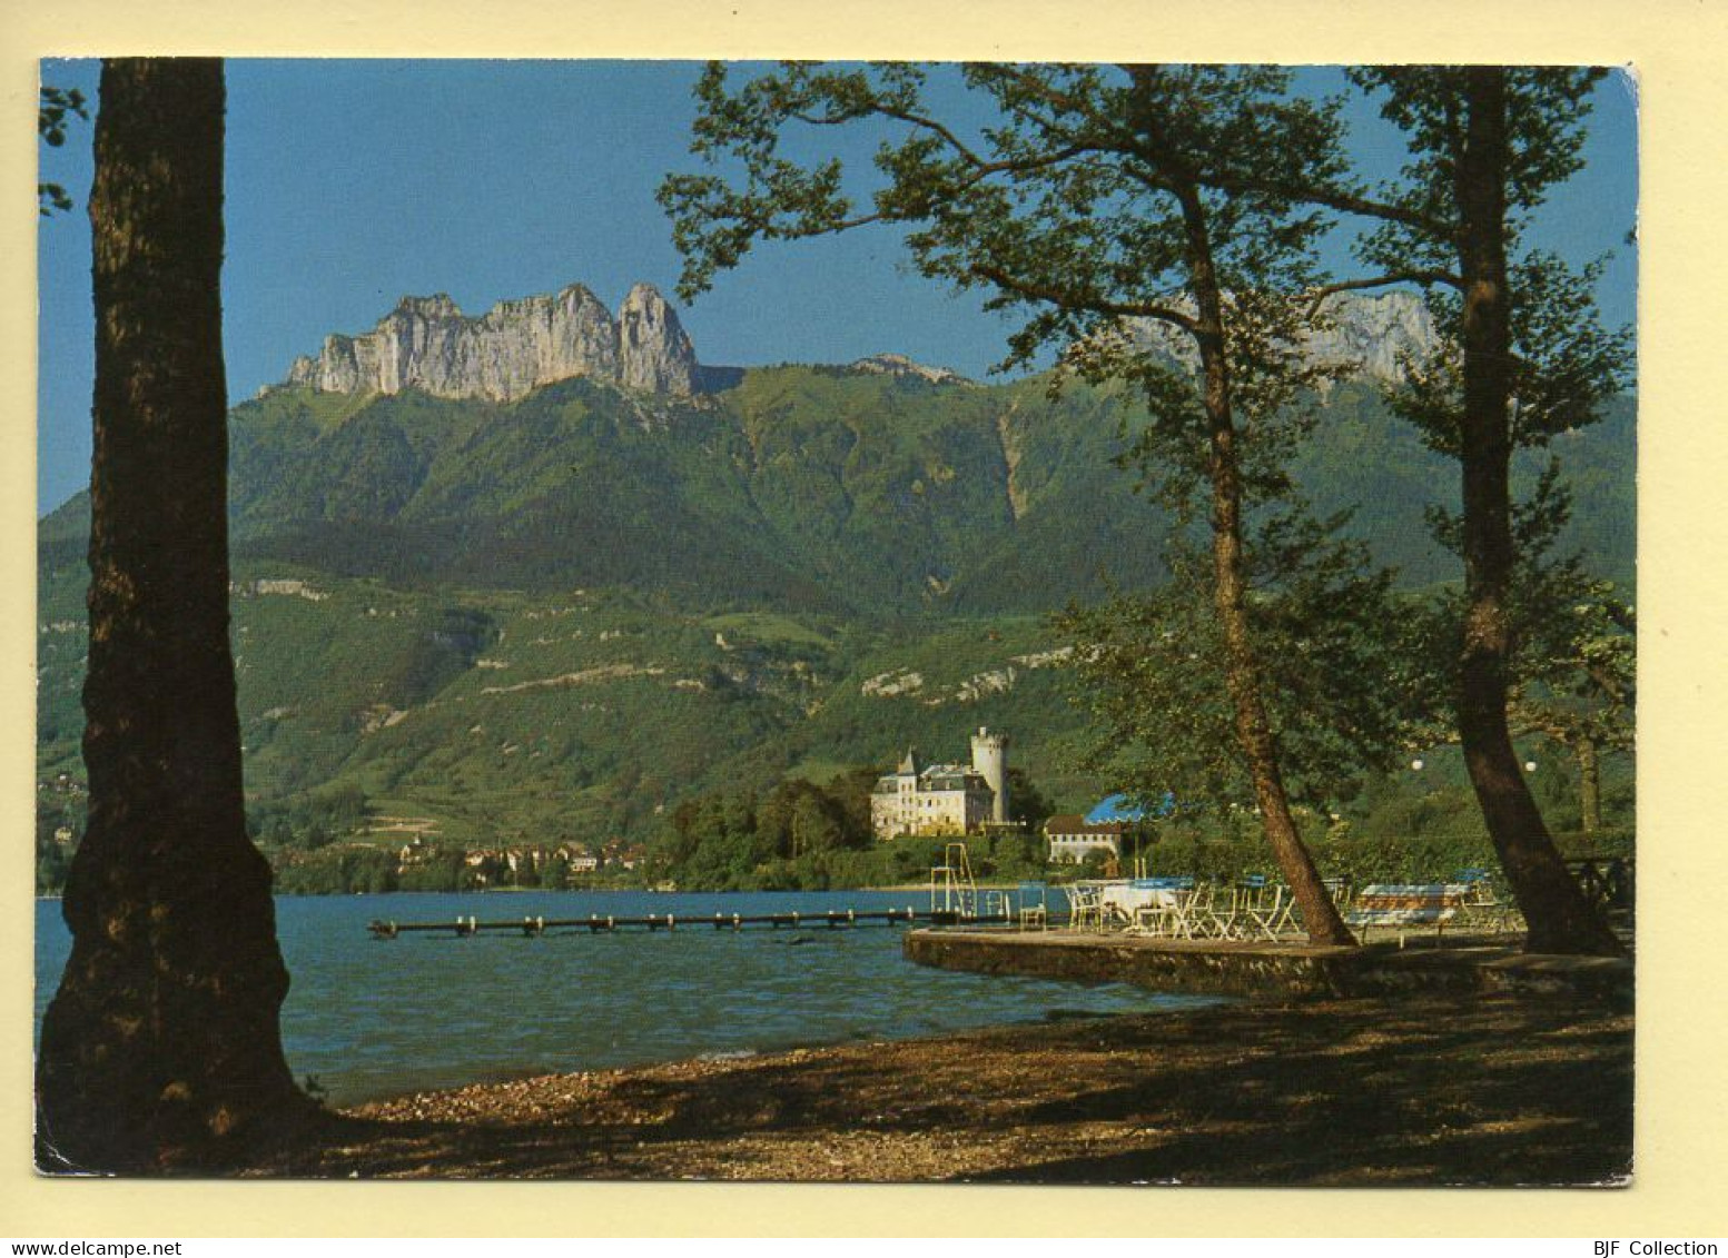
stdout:
[[[776,876],[814,864],[828,886],[923,880],[945,840],[973,842],[1004,876],[1075,867],[1116,876],[1130,835],[1156,819],[1123,795],[1085,814],[1049,816],[1037,788],[1009,769],[1009,736],[980,727],[964,762],[919,762],[907,748],[886,774],[845,774],[828,788],[785,781],[753,809],[745,852],[724,852],[738,829],[733,800],[688,800],[670,810],[667,842],[605,838],[548,843],[451,845],[423,817],[372,816],[359,791],[335,791],[294,810],[249,814],[254,842],[271,857],[287,893],[396,890],[817,890],[809,878]],[[1014,783],[1021,785],[1014,793]],[[54,893],[76,847],[86,786],[60,772],[38,783],[36,890]],[[1020,798],[1025,797],[1025,798]],[[1016,807],[1020,805],[1020,807]],[[715,833],[714,824],[719,824]],[[923,842],[919,842],[923,840]],[[892,845],[892,847],[890,847]],[[869,852],[869,848],[876,848]],[[895,850],[897,848],[897,850]],[[703,861],[719,855],[721,861]],[[852,857],[852,859],[848,859]],[[876,857],[876,859],[857,859]],[[881,859],[886,857],[886,859]],[[714,867],[703,867],[705,864]],[[990,867],[987,864],[987,867]],[[1144,861],[1135,861],[1144,873]]]

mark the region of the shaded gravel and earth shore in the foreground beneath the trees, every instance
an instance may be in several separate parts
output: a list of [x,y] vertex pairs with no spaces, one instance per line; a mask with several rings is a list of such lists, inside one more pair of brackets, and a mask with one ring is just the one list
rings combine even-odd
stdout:
[[1255,1002],[422,1092],[254,1173],[1624,1184],[1631,1080],[1588,1001]]

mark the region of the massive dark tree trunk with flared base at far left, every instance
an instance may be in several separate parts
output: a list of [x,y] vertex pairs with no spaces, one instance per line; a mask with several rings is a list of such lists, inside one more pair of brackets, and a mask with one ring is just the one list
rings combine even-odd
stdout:
[[123,59],[95,130],[95,456],[73,952],[41,1026],[45,1170],[211,1166],[306,1113],[245,836],[228,646],[223,69]]

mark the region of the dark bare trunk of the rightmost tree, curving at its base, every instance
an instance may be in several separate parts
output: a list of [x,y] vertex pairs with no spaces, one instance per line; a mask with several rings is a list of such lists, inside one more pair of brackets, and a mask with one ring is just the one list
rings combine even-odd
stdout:
[[1567,873],[1524,781],[1507,727],[1512,627],[1512,328],[1507,292],[1505,71],[1465,71],[1465,133],[1457,150],[1458,264],[1464,289],[1464,643],[1458,736],[1464,764],[1533,952],[1621,954],[1607,923]]

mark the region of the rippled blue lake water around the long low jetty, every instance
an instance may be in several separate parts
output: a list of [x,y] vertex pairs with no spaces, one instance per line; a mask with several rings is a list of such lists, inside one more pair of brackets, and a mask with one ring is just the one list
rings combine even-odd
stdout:
[[[548,1071],[601,1070],[847,1040],[892,1040],[1073,1013],[1192,1007],[1127,985],[957,975],[900,956],[904,928],[714,930],[715,912],[928,907],[919,892],[278,897],[294,976],[282,1035],[295,1078],[334,1104]],[[404,935],[366,923],[672,912],[676,931]],[[36,902],[36,1025],[71,935]]]

